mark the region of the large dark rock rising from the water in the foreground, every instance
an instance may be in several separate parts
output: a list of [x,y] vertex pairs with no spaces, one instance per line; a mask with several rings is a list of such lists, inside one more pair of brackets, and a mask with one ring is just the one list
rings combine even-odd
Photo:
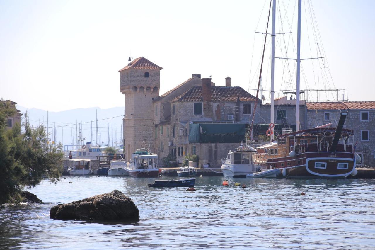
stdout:
[[63,220],[139,220],[139,210],[133,200],[121,191],[99,194],[68,204],[58,204],[49,210],[49,217]]

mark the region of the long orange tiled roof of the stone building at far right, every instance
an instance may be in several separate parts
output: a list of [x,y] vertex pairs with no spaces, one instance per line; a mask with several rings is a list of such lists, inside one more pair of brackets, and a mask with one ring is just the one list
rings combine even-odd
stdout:
[[375,102],[306,102],[308,110],[375,109]]

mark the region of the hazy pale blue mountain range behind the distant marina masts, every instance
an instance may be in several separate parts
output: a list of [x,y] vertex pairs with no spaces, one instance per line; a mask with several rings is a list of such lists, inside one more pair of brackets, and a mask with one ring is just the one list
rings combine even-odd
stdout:
[[[23,113],[25,117],[26,111],[30,120],[30,124],[34,127],[38,126],[38,122],[42,123],[47,127],[47,111],[37,108],[26,108],[17,105],[17,108]],[[76,131],[80,130],[80,124],[82,122],[82,136],[86,137],[85,143],[90,140],[95,143],[96,140],[96,112],[98,112],[98,144],[99,142],[108,144],[108,135],[111,145],[114,142],[121,142],[121,127],[122,119],[124,114],[124,107],[114,107],[101,109],[99,107],[93,108],[77,108],[72,110],[65,110],[60,112],[48,112],[48,131],[49,138],[57,142],[62,142],[64,145],[70,145],[71,143],[77,144]],[[76,122],[77,121],[77,122]],[[91,123],[92,121],[92,123]],[[109,133],[108,126],[109,125]],[[71,125],[73,124],[73,126]],[[91,129],[92,124],[92,129]],[[113,125],[112,125],[113,124]],[[100,129],[99,129],[100,125]],[[55,134],[54,128],[55,127]],[[73,127],[73,129],[72,129]],[[76,130],[77,127],[77,130]],[[74,132],[73,132],[74,131]],[[99,139],[101,139],[99,141]]]

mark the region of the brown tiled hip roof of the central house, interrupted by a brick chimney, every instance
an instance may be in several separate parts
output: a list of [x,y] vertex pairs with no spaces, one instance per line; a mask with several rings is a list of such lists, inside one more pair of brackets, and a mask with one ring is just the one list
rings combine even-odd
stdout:
[[[225,87],[212,86],[211,87],[212,102],[236,102],[240,98],[241,102],[255,101],[255,96],[246,92],[242,87]],[[171,102],[202,102],[202,87],[193,86],[185,93],[174,98]],[[258,101],[261,101],[258,99]]]

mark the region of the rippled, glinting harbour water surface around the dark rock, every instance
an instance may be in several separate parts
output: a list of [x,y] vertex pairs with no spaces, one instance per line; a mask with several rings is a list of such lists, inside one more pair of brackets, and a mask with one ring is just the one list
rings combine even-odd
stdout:
[[[373,179],[229,178],[229,186],[222,186],[225,179],[197,178],[195,192],[149,188],[150,178],[72,176],[57,185],[43,181],[29,191],[45,204],[0,211],[0,248],[375,248]],[[235,187],[234,182],[247,187]],[[57,203],[114,189],[133,199],[138,222],[49,218]]]

